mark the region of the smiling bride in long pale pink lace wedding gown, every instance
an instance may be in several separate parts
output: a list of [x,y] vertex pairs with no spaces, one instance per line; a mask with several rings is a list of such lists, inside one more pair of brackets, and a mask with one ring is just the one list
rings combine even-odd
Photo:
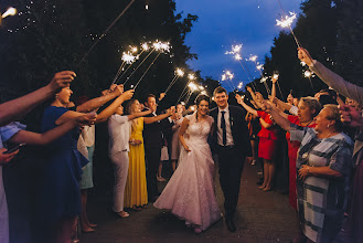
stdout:
[[199,95],[196,112],[184,118],[179,139],[184,147],[179,166],[154,207],[171,210],[185,220],[195,233],[206,230],[221,219],[214,193],[214,162],[207,144],[214,119],[207,115],[210,98]]

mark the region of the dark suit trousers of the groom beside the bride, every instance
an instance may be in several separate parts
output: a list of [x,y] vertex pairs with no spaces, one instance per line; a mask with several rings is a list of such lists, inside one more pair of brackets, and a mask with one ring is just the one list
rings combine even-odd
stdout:
[[220,182],[224,194],[224,210],[226,219],[232,219],[238,203],[241,176],[245,163],[245,156],[235,147],[218,146]]

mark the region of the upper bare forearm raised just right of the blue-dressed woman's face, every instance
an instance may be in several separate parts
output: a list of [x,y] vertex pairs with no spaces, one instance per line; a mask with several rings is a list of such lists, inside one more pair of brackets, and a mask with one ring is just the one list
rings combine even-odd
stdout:
[[97,98],[93,98],[88,102],[85,102],[84,104],[77,106],[78,113],[90,113],[95,109],[99,108],[100,106],[105,105],[109,101],[120,96],[124,92],[124,85],[117,85],[111,92],[106,92],[103,96],[99,96]]

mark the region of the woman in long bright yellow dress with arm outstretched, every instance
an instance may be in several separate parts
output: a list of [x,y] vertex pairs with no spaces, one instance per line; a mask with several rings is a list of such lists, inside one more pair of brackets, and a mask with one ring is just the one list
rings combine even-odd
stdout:
[[[152,112],[157,110],[157,105],[152,107]],[[127,106],[128,114],[141,112],[138,99],[132,99]],[[146,180],[145,149],[143,149],[143,123],[152,124],[164,119],[172,115],[175,108],[170,108],[167,114],[153,117],[139,117],[131,122],[130,152],[129,152],[129,170],[125,188],[125,208],[141,210],[148,204],[148,191]]]

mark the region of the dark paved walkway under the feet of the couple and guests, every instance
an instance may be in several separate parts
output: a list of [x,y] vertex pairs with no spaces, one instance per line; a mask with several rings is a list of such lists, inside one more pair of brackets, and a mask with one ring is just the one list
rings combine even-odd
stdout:
[[[216,175],[217,178],[217,175]],[[256,167],[245,165],[235,223],[231,233],[223,220],[196,235],[184,222],[171,213],[148,204],[148,209],[130,212],[117,219],[106,200],[92,197],[88,205],[92,222],[98,224],[94,233],[79,235],[81,242],[290,242],[299,232],[296,212],[289,207],[288,196],[263,192],[256,186]],[[161,186],[162,187],[162,186]],[[216,180],[217,200],[223,209],[223,193]],[[109,208],[109,207],[108,207]]]

